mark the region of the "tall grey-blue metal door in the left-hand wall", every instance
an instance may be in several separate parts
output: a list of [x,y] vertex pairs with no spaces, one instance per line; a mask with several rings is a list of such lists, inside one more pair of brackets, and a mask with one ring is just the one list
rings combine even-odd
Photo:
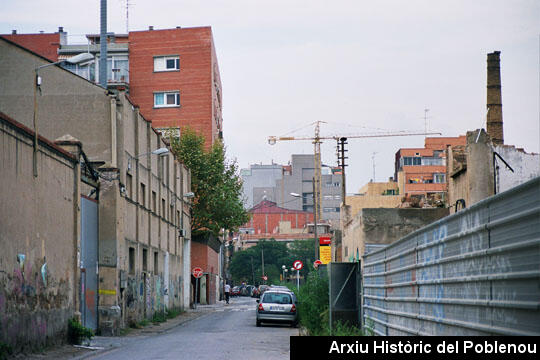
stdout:
[[97,330],[98,302],[98,203],[81,197],[81,318]]

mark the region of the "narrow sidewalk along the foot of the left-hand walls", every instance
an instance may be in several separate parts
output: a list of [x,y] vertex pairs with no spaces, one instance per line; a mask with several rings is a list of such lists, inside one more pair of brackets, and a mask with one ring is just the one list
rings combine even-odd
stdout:
[[163,323],[150,323],[141,329],[128,328],[126,334],[120,336],[94,336],[88,346],[77,345],[61,345],[58,347],[44,350],[39,354],[17,354],[14,359],[76,359],[82,360],[102,354],[119,347],[128,345],[133,341],[142,338],[156,336],[167,331],[170,331],[178,326],[186,324],[194,319],[204,316],[216,309],[222,308],[225,301],[218,301],[213,305],[197,304],[196,309],[189,309],[186,312],[178,315],[174,319],[167,320]]

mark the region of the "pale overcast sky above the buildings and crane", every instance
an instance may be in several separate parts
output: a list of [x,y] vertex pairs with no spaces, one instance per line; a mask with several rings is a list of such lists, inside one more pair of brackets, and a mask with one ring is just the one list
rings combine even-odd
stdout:
[[[0,0],[0,33],[99,33],[99,0]],[[228,157],[287,164],[309,141],[270,135],[485,128],[487,54],[501,51],[505,143],[540,152],[538,0],[130,0],[129,30],[211,26]],[[108,1],[108,31],[126,32],[126,0]],[[425,112],[425,109],[429,109]],[[347,192],[394,174],[399,148],[424,136],[348,141]],[[336,165],[335,142],[322,161]],[[375,176],[374,176],[375,174]]]

